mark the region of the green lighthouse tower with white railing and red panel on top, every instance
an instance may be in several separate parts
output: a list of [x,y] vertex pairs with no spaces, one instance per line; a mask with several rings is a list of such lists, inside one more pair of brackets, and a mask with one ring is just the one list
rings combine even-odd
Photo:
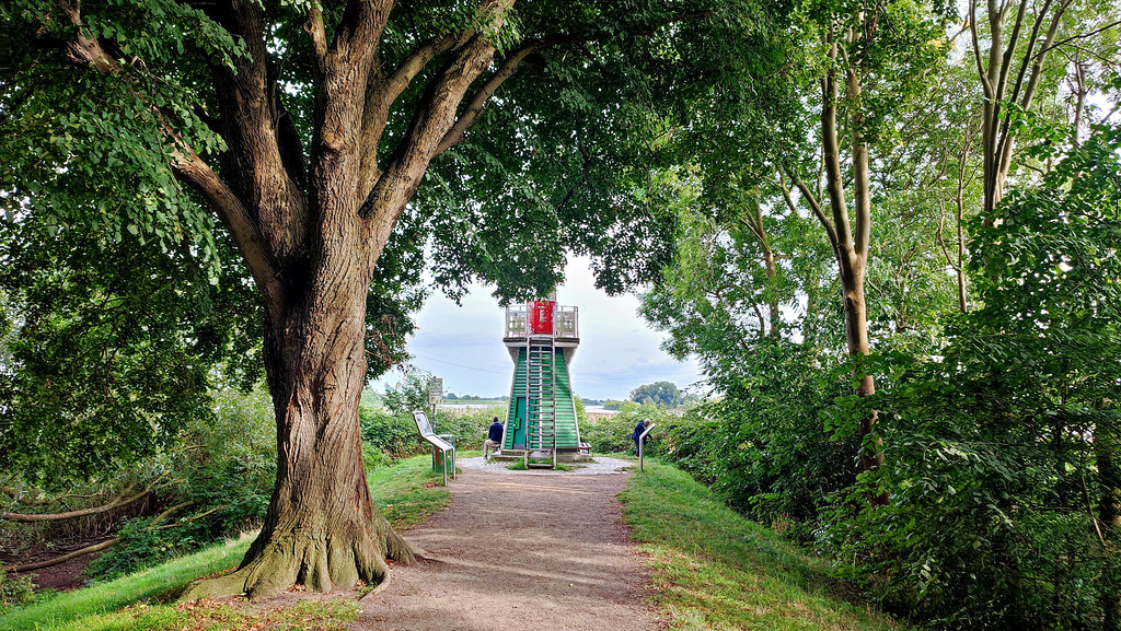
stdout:
[[568,377],[580,345],[576,307],[557,305],[556,293],[547,300],[507,307],[502,342],[515,365],[502,454],[520,455],[527,466],[548,467],[556,466],[558,457],[587,453],[580,442]]

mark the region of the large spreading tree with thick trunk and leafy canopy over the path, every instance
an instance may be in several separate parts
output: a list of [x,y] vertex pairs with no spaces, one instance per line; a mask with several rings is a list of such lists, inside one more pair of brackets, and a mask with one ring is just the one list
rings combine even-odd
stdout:
[[358,424],[395,231],[414,250],[410,228],[439,231],[451,284],[547,288],[559,239],[609,254],[620,287],[669,233],[621,186],[673,95],[645,68],[732,48],[768,69],[762,13],[728,2],[20,0],[0,17],[15,213],[210,267],[216,219],[261,298],[276,486],[239,570],[195,596],[377,583],[385,558],[414,558],[370,503]]

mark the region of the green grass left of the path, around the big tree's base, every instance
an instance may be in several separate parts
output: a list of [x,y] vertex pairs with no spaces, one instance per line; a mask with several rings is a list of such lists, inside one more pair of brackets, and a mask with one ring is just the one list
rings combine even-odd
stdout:
[[[416,456],[393,466],[369,472],[370,491],[378,510],[395,528],[424,521],[451,500],[432,473],[432,456]],[[300,603],[289,610],[234,611],[228,605],[175,605],[174,598],[200,576],[238,566],[254,535],[173,559],[115,581],[54,594],[0,616],[0,631],[141,631],[206,629],[346,629],[356,618],[348,601]],[[122,609],[123,607],[123,609]]]

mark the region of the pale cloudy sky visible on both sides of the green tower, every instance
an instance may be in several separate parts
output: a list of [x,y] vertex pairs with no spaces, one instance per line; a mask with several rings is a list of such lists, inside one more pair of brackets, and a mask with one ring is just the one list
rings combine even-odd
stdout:
[[[626,399],[643,383],[671,381],[685,389],[700,381],[696,361],[679,363],[659,349],[664,334],[638,316],[638,298],[609,297],[595,288],[586,258],[568,258],[560,305],[580,309],[580,347],[569,372],[578,397]],[[462,306],[433,295],[417,316],[408,349],[414,364],[444,379],[444,392],[499,397],[510,393],[513,362],[502,344],[504,310],[491,289],[472,286]],[[374,387],[396,383],[398,371]]]

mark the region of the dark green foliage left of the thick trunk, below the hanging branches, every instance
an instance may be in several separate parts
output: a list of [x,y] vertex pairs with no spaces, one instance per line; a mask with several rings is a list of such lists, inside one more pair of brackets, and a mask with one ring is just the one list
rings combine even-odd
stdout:
[[238,273],[215,286],[187,248],[4,223],[6,471],[46,485],[104,476],[205,423],[215,373],[260,374],[256,297]]

